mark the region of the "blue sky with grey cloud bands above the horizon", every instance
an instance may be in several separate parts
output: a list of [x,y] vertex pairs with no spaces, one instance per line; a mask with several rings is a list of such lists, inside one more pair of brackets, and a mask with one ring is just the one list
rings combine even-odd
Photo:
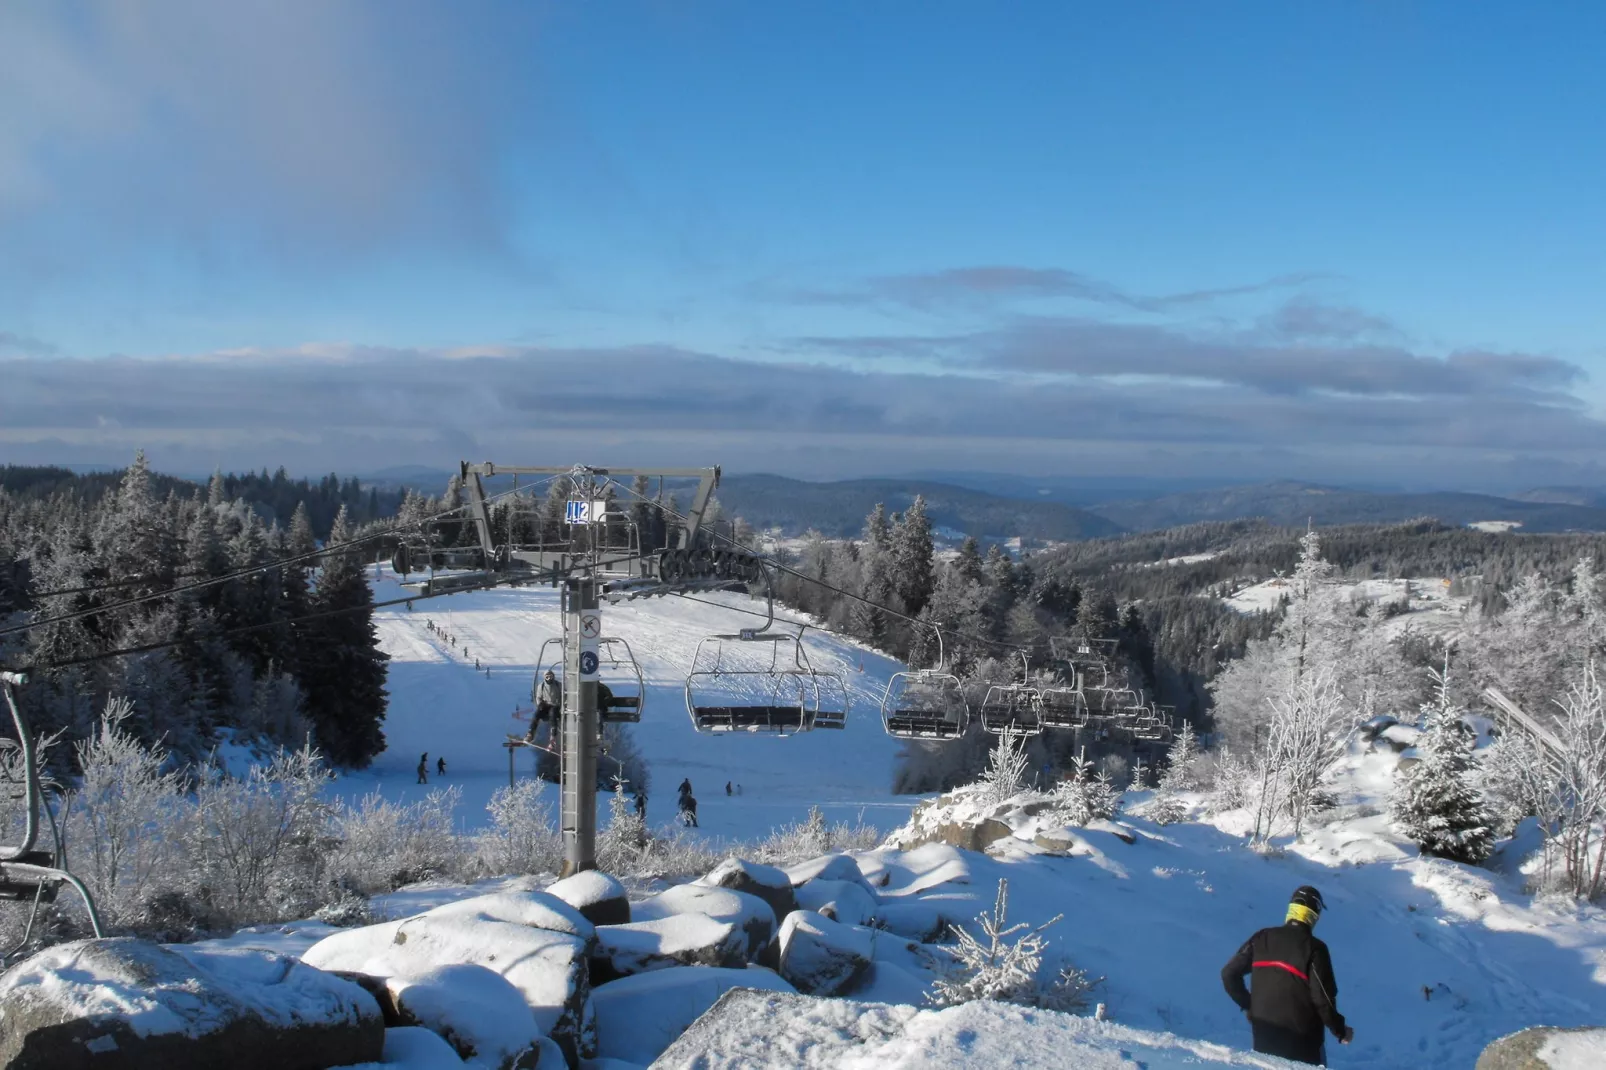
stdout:
[[1606,6],[0,10],[0,456],[1606,482]]

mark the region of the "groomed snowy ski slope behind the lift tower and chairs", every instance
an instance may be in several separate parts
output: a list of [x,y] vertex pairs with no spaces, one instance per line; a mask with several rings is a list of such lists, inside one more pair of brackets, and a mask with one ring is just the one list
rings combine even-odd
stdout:
[[[405,594],[397,577],[381,569],[374,599]],[[890,790],[899,742],[882,731],[880,721],[880,697],[899,664],[808,628],[805,646],[813,667],[838,673],[846,684],[846,728],[785,739],[745,733],[705,736],[692,728],[684,697],[697,643],[707,635],[763,623],[763,602],[739,594],[699,598],[705,601],[652,598],[602,607],[604,635],[630,643],[646,683],[634,737],[650,766],[649,823],[657,826],[675,816],[675,789],[683,778],[692,782],[705,837],[761,837],[805,818],[811,805],[819,805],[832,821],[858,821],[862,815],[866,824],[882,831],[907,819],[919,800]],[[800,620],[790,612],[777,617]],[[454,643],[430,631],[430,620]],[[562,635],[559,593],[501,588],[453,594],[416,602],[411,611],[381,609],[374,625],[390,654],[385,750],[366,771],[336,781],[334,792],[355,798],[379,789],[408,802],[434,787],[458,786],[459,818],[467,827],[483,824],[491,792],[507,784],[503,742],[509,733],[522,736],[527,728],[512,712],[530,705],[541,643]],[[763,665],[768,664],[764,647]],[[416,782],[424,752],[429,752],[429,786]],[[445,778],[435,776],[437,757],[446,758]],[[520,778],[533,774],[535,757],[528,749],[516,753]],[[740,797],[726,797],[726,781],[742,786]],[[556,808],[556,787],[549,786],[549,792]],[[599,805],[605,815],[605,800]]]

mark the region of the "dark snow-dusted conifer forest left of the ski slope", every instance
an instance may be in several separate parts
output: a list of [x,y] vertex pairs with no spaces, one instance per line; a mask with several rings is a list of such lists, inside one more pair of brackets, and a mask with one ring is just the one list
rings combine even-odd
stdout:
[[[0,562],[13,580],[0,664],[31,672],[21,694],[37,731],[82,739],[120,696],[133,710],[125,729],[186,758],[222,729],[291,745],[310,729],[344,766],[384,747],[385,655],[361,549],[279,566],[318,548],[312,506],[265,522],[228,485],[157,477],[141,455],[114,480],[51,485],[47,474],[0,490]],[[234,485],[271,500],[275,479]],[[296,487],[283,484],[286,495]],[[336,509],[326,541],[339,546],[355,524],[340,485],[324,487],[316,500]],[[220,577],[234,578],[207,583]],[[165,594],[181,585],[194,590]]]

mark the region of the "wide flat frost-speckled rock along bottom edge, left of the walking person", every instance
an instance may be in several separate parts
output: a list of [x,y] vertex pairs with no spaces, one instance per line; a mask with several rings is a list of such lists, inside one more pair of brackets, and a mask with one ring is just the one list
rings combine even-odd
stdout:
[[917,1011],[732,991],[658,1057],[662,1070],[1180,1070],[1266,1067],[1264,1056],[1054,1011],[970,1003]]

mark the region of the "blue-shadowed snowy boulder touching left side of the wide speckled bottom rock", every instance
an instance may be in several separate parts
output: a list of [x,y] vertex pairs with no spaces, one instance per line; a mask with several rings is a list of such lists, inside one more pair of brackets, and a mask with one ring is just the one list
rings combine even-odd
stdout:
[[647,1065],[732,988],[793,991],[764,969],[683,966],[626,977],[596,990],[597,1056]]

